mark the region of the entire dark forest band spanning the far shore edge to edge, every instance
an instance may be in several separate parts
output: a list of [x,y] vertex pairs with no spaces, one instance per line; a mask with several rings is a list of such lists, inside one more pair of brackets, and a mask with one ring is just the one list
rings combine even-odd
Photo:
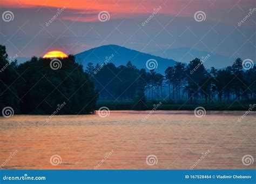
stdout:
[[59,114],[87,114],[100,106],[151,110],[159,102],[160,110],[193,110],[199,104],[210,110],[241,110],[256,99],[255,66],[244,70],[240,58],[221,70],[207,70],[195,58],[188,64],[177,62],[163,74],[137,69],[130,61],[83,68],[72,55],[59,60],[58,70],[52,70],[50,58],[32,57],[18,65],[0,45],[1,110],[10,106],[16,114],[51,114],[66,104]]

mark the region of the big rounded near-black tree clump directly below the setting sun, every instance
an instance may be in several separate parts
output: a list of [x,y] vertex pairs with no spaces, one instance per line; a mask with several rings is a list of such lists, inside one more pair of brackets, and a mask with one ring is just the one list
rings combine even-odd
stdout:
[[[50,58],[31,58],[18,66],[18,96],[24,114],[51,114],[59,104],[59,114],[87,114],[95,111],[97,92],[83,66],[74,56],[58,58],[62,67],[52,70]],[[68,77],[67,77],[68,76]]]

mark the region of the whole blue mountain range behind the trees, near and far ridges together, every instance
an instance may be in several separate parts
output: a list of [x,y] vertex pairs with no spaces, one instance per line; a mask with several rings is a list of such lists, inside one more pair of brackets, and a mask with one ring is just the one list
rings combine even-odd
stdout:
[[[198,51],[187,47],[181,47],[178,49],[167,49],[165,52],[156,51],[150,53],[139,52],[137,50],[128,49],[119,45],[102,45],[95,47],[84,52],[75,54],[76,62],[82,64],[84,69],[86,65],[91,62],[93,65],[103,64],[106,58],[111,59],[109,63],[113,63],[116,66],[126,65],[129,61],[136,66],[138,69],[147,69],[146,62],[149,59],[157,61],[156,72],[164,74],[168,66],[174,66],[177,62],[188,64],[194,58],[204,60],[204,66],[206,69],[210,69],[214,66],[216,69],[224,69],[230,66],[234,62],[234,58],[228,58],[219,54]],[[24,63],[30,58],[17,57],[18,64]]]

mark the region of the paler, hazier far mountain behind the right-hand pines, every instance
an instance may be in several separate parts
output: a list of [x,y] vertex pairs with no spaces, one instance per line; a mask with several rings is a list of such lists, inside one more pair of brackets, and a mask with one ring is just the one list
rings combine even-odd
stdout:
[[202,60],[207,56],[207,59],[204,60],[204,66],[206,67],[206,69],[210,69],[212,66],[214,66],[216,69],[223,69],[227,66],[232,65],[235,60],[234,58],[228,58],[216,53],[198,51],[186,47],[178,49],[167,49],[165,52],[156,51],[150,53],[163,58],[172,58],[177,62],[183,63],[189,63],[194,58],[199,58]]

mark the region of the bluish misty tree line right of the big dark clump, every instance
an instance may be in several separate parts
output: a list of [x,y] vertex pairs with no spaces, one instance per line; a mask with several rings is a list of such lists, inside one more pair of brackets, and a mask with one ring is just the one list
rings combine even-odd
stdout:
[[191,104],[204,100],[207,104],[256,97],[255,66],[244,70],[240,58],[221,70],[206,70],[203,62],[195,58],[187,65],[178,62],[167,67],[164,75],[137,69],[131,62],[118,67],[113,63],[88,63],[85,71],[95,82],[100,100],[189,100]]

